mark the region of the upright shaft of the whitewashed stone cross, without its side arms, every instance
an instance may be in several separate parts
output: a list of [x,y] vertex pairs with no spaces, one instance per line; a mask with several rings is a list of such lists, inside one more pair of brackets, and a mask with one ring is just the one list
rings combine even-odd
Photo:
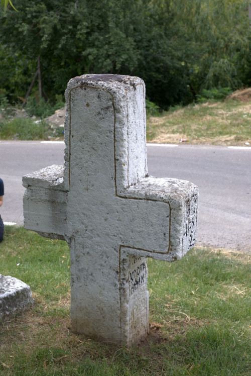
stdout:
[[[129,344],[148,332],[147,266],[145,260],[140,281],[137,267],[132,270],[134,286],[130,292],[123,287],[131,264],[129,255],[120,252],[124,231],[120,202],[124,199],[116,196],[146,175],[144,84],[132,77],[119,83],[120,90],[117,84],[111,80],[108,88],[103,82],[93,84],[84,78],[75,80],[66,95],[67,218],[74,224],[74,240],[70,242],[71,321],[76,333]],[[135,100],[137,95],[141,101]],[[138,296],[146,307],[145,316],[144,310],[140,315],[137,310],[136,317],[136,311],[129,307],[133,292],[132,299]],[[133,332],[128,330],[129,321]]]

